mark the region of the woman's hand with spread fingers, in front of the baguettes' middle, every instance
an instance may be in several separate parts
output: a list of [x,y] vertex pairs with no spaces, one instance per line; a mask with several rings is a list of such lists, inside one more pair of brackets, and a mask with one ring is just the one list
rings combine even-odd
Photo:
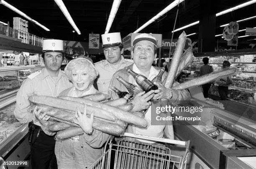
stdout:
[[93,123],[93,117],[94,113],[91,114],[90,117],[87,117],[87,105],[84,104],[84,114],[80,112],[80,110],[77,107],[76,112],[76,123],[79,124],[79,126],[84,130],[85,133],[91,133],[92,132],[92,123]]

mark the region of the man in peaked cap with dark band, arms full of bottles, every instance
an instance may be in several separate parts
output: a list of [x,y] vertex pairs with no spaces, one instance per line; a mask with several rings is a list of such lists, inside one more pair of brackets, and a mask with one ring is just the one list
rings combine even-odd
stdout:
[[[158,75],[161,67],[154,67],[152,63],[156,58],[156,47],[157,41],[156,38],[151,36],[150,34],[140,34],[135,37],[133,40],[133,50],[131,51],[131,55],[133,55],[134,64],[128,66],[134,72],[144,75],[148,78],[148,80],[153,80],[156,75]],[[116,79],[117,76],[123,77],[124,80],[137,85],[134,78],[125,70],[118,70],[114,75],[110,82],[110,87],[114,86],[120,89],[120,91],[127,91],[125,86],[118,82]],[[164,72],[162,76],[162,82],[167,77],[167,72]],[[169,139],[174,139],[174,132],[172,123],[166,122],[164,125],[151,125],[151,102],[150,100],[155,97],[154,99],[168,99],[168,100],[190,100],[190,94],[187,90],[175,90],[175,89],[167,89],[160,83],[155,83],[158,86],[157,90],[151,90],[150,92],[144,94],[138,94],[134,97],[132,103],[134,105],[133,110],[141,111],[143,109],[148,109],[145,114],[145,119],[148,122],[148,126],[146,128],[138,128],[135,126],[128,126],[127,132],[135,133],[135,134],[142,134],[146,136],[152,137],[166,137]],[[175,84],[174,84],[175,85]],[[155,94],[152,94],[155,93]],[[115,92],[110,91],[110,97],[112,99],[118,98]],[[168,115],[168,114],[164,114]],[[169,114],[170,115],[170,114]],[[147,143],[155,143],[146,140],[140,140],[141,142]]]

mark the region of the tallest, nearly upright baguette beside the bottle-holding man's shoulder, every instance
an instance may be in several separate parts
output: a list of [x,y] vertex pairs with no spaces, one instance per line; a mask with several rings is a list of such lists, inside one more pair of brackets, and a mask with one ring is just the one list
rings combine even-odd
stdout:
[[166,77],[166,82],[164,84],[164,87],[166,88],[172,88],[172,84],[175,80],[176,72],[179,67],[180,57],[184,50],[186,36],[187,35],[184,31],[182,32],[182,34],[179,35],[179,40],[172,57],[171,65],[169,67],[168,76]]

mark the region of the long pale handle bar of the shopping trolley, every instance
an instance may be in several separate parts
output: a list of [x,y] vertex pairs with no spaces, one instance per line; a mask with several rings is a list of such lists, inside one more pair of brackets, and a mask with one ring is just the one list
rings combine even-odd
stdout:
[[149,141],[164,142],[164,143],[169,143],[169,144],[179,144],[182,146],[187,146],[187,144],[190,144],[190,141],[184,142],[184,141],[179,141],[179,140],[151,137],[151,136],[145,136],[145,135],[141,135],[141,134],[133,134],[133,133],[127,133],[127,132],[125,132],[123,134],[123,136],[133,137],[136,139],[144,139],[144,140],[149,140]]

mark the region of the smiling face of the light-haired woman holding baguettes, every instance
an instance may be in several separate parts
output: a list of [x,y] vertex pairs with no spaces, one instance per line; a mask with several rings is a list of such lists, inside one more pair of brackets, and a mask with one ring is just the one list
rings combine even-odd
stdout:
[[89,69],[79,69],[79,70],[72,70],[71,72],[71,81],[74,87],[79,91],[87,90],[90,85],[92,77],[89,75]]

